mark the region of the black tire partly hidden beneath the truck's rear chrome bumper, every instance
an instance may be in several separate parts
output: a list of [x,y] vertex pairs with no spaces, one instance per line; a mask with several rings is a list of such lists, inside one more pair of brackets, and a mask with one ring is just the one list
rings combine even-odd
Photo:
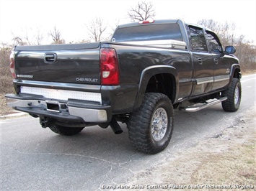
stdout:
[[72,136],[75,134],[79,134],[84,127],[69,127],[69,126],[60,126],[58,124],[51,124],[49,129],[56,134]]

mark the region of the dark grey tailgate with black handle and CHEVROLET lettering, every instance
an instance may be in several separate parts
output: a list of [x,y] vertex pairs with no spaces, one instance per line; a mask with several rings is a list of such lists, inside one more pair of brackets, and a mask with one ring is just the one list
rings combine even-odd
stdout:
[[100,43],[19,46],[15,48],[17,79],[100,84]]

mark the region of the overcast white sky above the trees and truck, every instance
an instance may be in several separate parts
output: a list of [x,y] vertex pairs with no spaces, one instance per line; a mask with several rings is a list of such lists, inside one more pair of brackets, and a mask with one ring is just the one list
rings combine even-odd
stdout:
[[[89,39],[85,24],[101,17],[109,26],[130,22],[127,11],[140,0],[0,0],[0,43],[12,43],[13,34],[45,34],[56,26],[66,42]],[[143,0],[141,0],[143,1]],[[148,0],[144,0],[148,1]],[[256,44],[255,0],[149,0],[156,11],[154,19],[184,19],[196,23],[213,19],[236,25],[236,34]],[[30,34],[34,32],[34,34]]]

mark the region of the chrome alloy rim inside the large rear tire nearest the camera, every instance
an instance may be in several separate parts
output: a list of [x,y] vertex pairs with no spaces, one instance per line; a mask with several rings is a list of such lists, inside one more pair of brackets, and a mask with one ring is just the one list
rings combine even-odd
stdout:
[[151,119],[151,135],[154,141],[161,141],[167,132],[168,116],[164,108],[158,108]]

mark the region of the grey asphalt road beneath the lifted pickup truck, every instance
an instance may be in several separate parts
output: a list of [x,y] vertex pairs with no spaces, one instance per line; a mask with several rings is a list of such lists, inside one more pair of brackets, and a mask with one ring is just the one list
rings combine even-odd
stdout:
[[255,104],[255,83],[256,75],[243,76],[242,103],[235,113],[224,112],[221,104],[197,113],[175,111],[172,140],[155,155],[136,152],[125,125],[120,135],[92,126],[69,137],[42,129],[38,118],[2,120],[0,190],[104,190],[125,184],[136,172],[157,167],[231,126],[234,118]]

